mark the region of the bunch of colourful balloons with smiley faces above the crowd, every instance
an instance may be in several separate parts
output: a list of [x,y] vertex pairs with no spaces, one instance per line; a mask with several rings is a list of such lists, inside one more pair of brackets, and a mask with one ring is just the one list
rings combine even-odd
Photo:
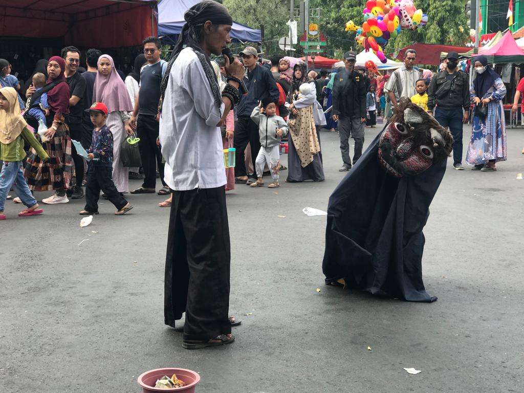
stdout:
[[395,38],[401,29],[416,30],[428,22],[428,16],[415,7],[413,0],[368,0],[362,13],[362,26],[350,20],[345,30],[356,31],[355,40],[366,51],[373,50],[383,63],[387,62],[384,48],[390,38]]

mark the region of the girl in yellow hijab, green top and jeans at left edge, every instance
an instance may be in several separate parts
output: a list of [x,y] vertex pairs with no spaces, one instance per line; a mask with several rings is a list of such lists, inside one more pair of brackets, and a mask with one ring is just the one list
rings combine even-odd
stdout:
[[42,214],[38,203],[27,187],[22,160],[26,156],[24,140],[38,153],[42,160],[49,157],[42,145],[27,127],[27,123],[20,114],[17,93],[13,88],[0,89],[0,160],[3,161],[0,173],[0,220],[5,220],[4,204],[7,192],[14,188],[20,200],[27,206],[18,215],[26,217]]

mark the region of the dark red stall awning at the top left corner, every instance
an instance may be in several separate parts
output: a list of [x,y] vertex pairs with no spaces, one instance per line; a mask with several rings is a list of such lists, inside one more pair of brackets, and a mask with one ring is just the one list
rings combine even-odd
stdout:
[[156,33],[155,0],[0,0],[0,36],[55,38],[78,47],[140,45]]

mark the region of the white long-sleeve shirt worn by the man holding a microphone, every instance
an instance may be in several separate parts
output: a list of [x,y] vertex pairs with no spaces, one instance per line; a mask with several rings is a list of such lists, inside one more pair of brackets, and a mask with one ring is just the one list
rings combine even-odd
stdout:
[[226,184],[219,108],[193,49],[173,63],[160,117],[164,180],[172,190],[216,188]]

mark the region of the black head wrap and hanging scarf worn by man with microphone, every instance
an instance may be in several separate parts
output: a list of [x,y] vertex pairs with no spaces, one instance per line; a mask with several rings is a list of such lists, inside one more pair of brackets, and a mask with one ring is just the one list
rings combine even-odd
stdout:
[[[182,27],[178,42],[173,48],[171,53],[171,59],[167,65],[166,73],[160,83],[160,100],[163,101],[163,97],[166,93],[167,83],[169,80],[169,74],[171,73],[171,67],[177,60],[178,55],[182,51],[183,45],[187,42],[188,47],[193,48],[196,56],[199,58],[204,73],[208,78],[215,103],[218,107],[222,105],[222,98],[220,88],[216,82],[215,73],[213,67],[211,67],[211,59],[208,55],[200,48],[198,42],[198,31],[206,21],[211,21],[214,25],[233,25],[233,18],[228,12],[227,8],[222,4],[212,0],[204,0],[200,3],[196,3],[194,6],[189,8],[184,14],[185,24]],[[161,108],[161,106],[160,106]]]

